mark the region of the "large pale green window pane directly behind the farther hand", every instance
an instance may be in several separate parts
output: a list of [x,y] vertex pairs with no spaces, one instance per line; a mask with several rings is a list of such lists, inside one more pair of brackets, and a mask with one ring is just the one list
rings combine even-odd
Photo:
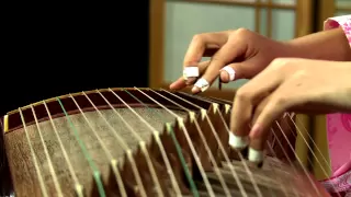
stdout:
[[253,8],[167,1],[166,9],[166,82],[181,77],[183,58],[195,34],[239,27],[254,30]]

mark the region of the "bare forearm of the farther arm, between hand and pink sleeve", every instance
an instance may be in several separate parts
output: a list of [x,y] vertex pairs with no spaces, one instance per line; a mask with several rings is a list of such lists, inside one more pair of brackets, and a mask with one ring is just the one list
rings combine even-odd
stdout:
[[299,58],[351,61],[350,44],[341,27],[295,38],[288,45]]

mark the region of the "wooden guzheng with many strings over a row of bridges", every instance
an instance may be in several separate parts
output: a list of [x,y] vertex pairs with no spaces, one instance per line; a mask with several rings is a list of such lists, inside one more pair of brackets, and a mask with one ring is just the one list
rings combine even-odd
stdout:
[[228,146],[230,103],[167,90],[104,89],[9,112],[1,196],[325,194],[294,157],[293,116],[276,121],[271,157],[258,167],[246,151]]

